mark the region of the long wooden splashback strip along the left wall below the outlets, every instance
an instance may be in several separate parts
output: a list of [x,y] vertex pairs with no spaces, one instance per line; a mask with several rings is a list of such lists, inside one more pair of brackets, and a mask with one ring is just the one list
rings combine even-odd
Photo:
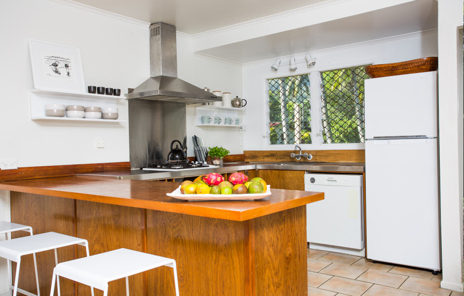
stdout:
[[26,180],[50,177],[74,176],[90,172],[130,170],[130,162],[89,163],[23,167],[17,170],[0,170],[0,181]]

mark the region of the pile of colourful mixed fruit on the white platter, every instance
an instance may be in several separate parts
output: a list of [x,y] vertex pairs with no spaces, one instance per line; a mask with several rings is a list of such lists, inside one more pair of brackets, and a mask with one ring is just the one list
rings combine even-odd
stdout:
[[267,184],[262,178],[253,178],[243,173],[232,173],[229,181],[218,173],[210,173],[197,177],[193,182],[181,184],[182,194],[259,194],[266,192]]

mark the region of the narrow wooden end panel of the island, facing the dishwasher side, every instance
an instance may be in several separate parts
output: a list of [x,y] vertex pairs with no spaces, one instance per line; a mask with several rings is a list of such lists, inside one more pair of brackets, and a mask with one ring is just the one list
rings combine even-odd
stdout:
[[307,295],[306,205],[254,219],[256,295]]

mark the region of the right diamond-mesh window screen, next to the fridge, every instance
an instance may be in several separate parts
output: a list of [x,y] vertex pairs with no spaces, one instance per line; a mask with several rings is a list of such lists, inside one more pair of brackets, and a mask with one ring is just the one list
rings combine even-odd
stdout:
[[366,66],[321,72],[324,143],[364,143]]

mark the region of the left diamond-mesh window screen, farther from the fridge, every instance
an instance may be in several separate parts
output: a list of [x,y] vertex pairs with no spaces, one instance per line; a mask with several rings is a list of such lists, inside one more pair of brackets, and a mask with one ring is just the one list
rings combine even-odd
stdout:
[[311,144],[309,74],[269,79],[271,145]]

